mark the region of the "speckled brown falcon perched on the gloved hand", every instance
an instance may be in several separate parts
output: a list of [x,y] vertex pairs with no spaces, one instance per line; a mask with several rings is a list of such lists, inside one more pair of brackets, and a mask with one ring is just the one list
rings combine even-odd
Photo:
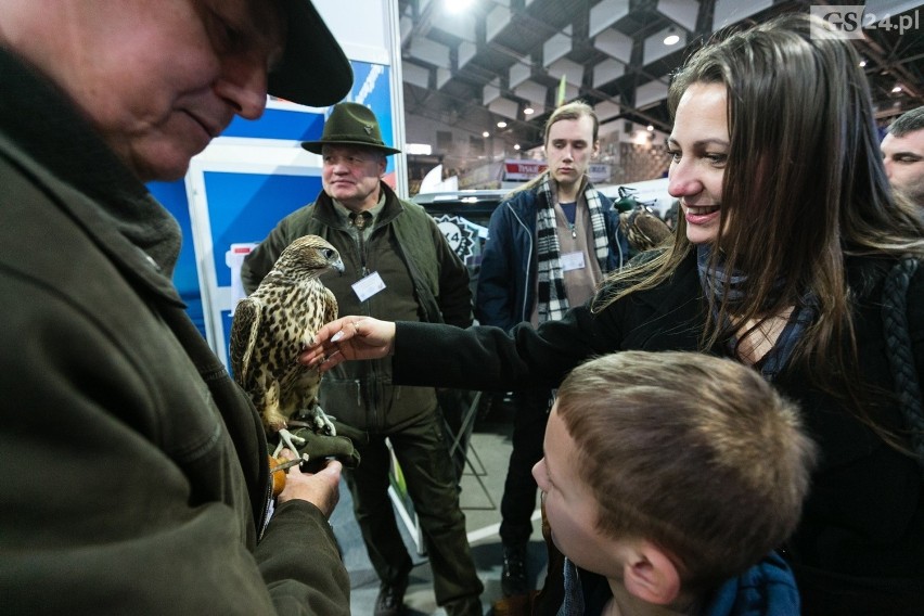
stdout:
[[[260,285],[238,303],[231,323],[231,370],[251,396],[268,435],[297,452],[305,440],[291,434],[292,421],[318,433],[336,429],[318,403],[321,374],[296,361],[315,333],[337,318],[337,300],[319,277],[344,271],[341,255],[318,235],[290,244]],[[275,454],[274,453],[274,454]]]

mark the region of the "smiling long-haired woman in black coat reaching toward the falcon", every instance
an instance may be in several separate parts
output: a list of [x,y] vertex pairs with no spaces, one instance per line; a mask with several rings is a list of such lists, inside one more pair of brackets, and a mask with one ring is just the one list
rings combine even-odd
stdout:
[[[497,390],[556,387],[583,359],[620,350],[750,364],[800,403],[821,446],[785,546],[801,613],[919,616],[924,492],[909,488],[921,475],[881,307],[889,269],[924,257],[924,222],[893,197],[859,57],[812,18],[785,15],[703,47],[669,101],[669,190],[684,216],[672,244],[611,274],[591,304],[510,332],[362,319],[355,335],[345,317],[304,359],[321,346],[341,350],[332,364],[394,352],[397,383]],[[924,380],[917,272],[908,368]]]

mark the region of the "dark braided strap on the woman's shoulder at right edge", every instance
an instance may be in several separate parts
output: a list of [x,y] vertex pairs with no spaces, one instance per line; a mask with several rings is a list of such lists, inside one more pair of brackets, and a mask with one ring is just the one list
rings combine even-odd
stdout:
[[883,288],[882,316],[895,392],[910,433],[911,449],[924,473],[924,403],[908,329],[908,287],[915,271],[917,259],[910,257],[891,268]]

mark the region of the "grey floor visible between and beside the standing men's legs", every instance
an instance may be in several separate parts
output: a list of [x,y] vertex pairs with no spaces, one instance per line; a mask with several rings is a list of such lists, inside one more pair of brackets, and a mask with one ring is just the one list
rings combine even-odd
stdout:
[[[475,420],[472,432],[469,464],[462,479],[461,504],[469,530],[469,543],[485,585],[482,594],[483,613],[492,614],[491,606],[502,596],[500,589],[501,546],[498,537],[500,526],[500,501],[506,466],[510,459],[510,433],[512,411],[506,405],[493,405]],[[537,501],[538,503],[538,501]],[[341,502],[331,523],[344,552],[344,562],[350,575],[351,613],[371,616],[378,595],[378,579],[372,570],[359,528],[352,516],[352,501],[346,485],[341,485]],[[546,577],[546,544],[542,541],[538,509],[534,514],[534,535],[528,548],[528,570],[534,588],[540,587]],[[405,595],[407,616],[444,615],[436,606],[433,594],[429,564],[418,553],[410,531],[405,542],[414,559],[410,586]]]

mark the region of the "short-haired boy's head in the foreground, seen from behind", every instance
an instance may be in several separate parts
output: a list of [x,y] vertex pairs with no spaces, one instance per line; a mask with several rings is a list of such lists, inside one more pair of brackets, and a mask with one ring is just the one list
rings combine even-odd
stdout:
[[532,473],[566,556],[670,603],[778,548],[799,519],[813,460],[797,408],[754,370],[623,351],[562,383]]

